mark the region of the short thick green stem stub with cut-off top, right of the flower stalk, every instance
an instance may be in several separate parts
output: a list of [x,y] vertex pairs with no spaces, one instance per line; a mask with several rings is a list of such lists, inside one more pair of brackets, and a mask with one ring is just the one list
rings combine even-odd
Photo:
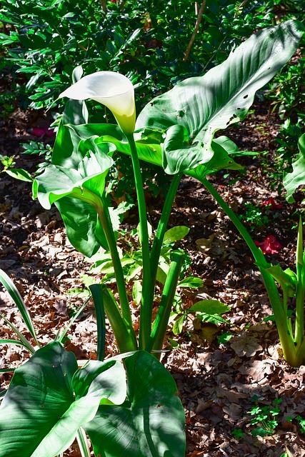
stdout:
[[176,287],[181,271],[182,260],[183,253],[179,251],[173,251],[171,253],[171,265],[169,267],[169,274],[167,275],[164,284],[161,303],[154,320],[153,327],[151,329],[151,335],[149,336],[149,341],[146,345],[146,351],[150,352],[151,349],[161,349],[163,346],[166,328],[169,323],[171,306],[174,302]]

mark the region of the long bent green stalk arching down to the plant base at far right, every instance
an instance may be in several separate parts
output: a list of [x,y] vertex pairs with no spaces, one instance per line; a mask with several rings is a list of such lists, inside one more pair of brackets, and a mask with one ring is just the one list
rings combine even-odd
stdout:
[[226,202],[222,199],[216,189],[214,189],[214,187],[209,183],[209,181],[206,178],[203,178],[200,181],[214,197],[219,206],[221,206],[227,216],[229,216],[233,224],[236,226],[236,229],[239,231],[241,236],[244,238],[244,241],[246,241],[247,245],[249,246],[256,264],[261,271],[261,277],[263,278],[264,285],[269,296],[271,308],[274,312],[276,327],[279,333],[279,339],[281,341],[281,348],[283,349],[284,353],[284,358],[286,362],[289,363],[289,365],[296,366],[296,348],[294,346],[294,337],[291,335],[291,331],[289,331],[287,315],[284,310],[281,296],[279,295],[279,291],[276,287],[274,278],[272,278],[272,276],[264,269],[264,265],[267,265],[264,254],[261,252],[261,249],[257,248],[253,239],[246,231],[243,224],[241,224],[241,221],[239,221],[239,218],[236,216],[236,214],[234,214],[229,205],[226,204]]

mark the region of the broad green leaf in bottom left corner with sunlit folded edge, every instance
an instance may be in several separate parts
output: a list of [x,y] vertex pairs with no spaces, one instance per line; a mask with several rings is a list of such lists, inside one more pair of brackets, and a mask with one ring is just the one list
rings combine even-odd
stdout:
[[91,361],[78,370],[73,353],[49,343],[17,368],[0,407],[1,457],[54,457],[74,441],[99,404],[122,403],[121,363]]

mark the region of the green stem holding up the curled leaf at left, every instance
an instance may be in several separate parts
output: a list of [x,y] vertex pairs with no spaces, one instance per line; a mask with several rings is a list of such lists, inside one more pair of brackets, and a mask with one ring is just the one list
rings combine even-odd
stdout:
[[119,258],[119,251],[116,246],[116,238],[114,236],[114,231],[112,229],[108,206],[106,203],[104,203],[104,201],[101,201],[101,205],[99,205],[98,208],[96,208],[96,210],[99,215],[99,221],[101,222],[101,226],[103,227],[106,236],[109,251],[111,253],[111,259],[114,265],[114,274],[116,276],[116,286],[118,288],[120,298],[122,318],[126,325],[127,331],[136,346],[136,333],[134,332],[134,327],[132,325],[131,311],[129,308],[129,300],[126,292],[123,268],[121,266],[121,260]]

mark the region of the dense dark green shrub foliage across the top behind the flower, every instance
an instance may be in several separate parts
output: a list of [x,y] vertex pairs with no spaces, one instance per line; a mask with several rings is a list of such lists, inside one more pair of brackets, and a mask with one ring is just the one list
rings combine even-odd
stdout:
[[[224,61],[232,46],[275,21],[276,4],[206,1],[200,33],[186,58],[198,17],[191,2],[106,1],[104,10],[94,0],[5,2],[0,13],[5,25],[0,71],[11,75],[11,87],[1,103],[7,105],[8,97],[17,96],[23,107],[28,99],[35,109],[47,106],[81,64],[85,74],[112,70],[130,76],[144,104],[148,96]],[[292,4],[285,7],[288,16],[290,10],[294,14]]]

